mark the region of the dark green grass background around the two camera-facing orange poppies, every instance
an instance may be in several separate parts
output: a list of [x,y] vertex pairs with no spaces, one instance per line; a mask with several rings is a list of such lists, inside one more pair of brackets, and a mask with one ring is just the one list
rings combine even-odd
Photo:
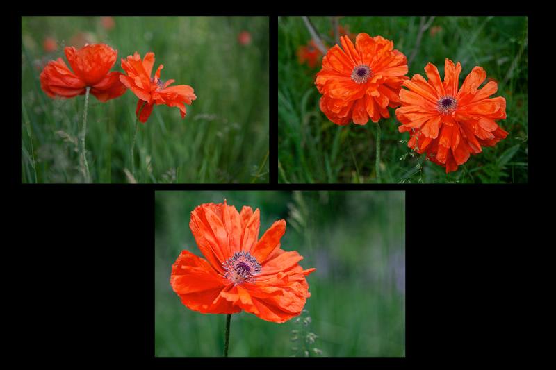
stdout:
[[[310,17],[328,46],[335,44],[332,17]],[[484,148],[459,169],[445,169],[412,156],[409,133],[399,133],[395,110],[381,119],[380,168],[383,183],[527,183],[528,182],[528,49],[527,17],[340,17],[348,31],[382,35],[404,53],[409,73],[425,76],[432,62],[444,76],[445,58],[461,62],[460,84],[476,65],[498,81],[507,103],[507,119],[498,121],[509,132],[493,148]],[[422,34],[417,47],[418,33]],[[314,85],[321,62],[300,65],[296,51],[311,40],[301,17],[278,19],[278,154],[280,183],[375,183],[376,124],[337,126],[320,111]],[[485,82],[486,83],[486,82]],[[404,142],[400,142],[404,140]]]

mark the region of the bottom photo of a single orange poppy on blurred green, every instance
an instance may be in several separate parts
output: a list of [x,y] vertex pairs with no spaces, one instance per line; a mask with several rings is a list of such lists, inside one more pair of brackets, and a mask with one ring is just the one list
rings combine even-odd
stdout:
[[405,193],[156,191],[156,357],[404,357]]

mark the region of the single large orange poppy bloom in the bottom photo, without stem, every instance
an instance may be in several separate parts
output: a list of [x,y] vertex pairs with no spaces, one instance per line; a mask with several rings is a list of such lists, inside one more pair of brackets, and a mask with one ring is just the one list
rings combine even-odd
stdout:
[[303,257],[280,248],[286,221],[276,221],[259,239],[259,210],[206,203],[191,212],[189,227],[204,258],[182,251],[170,285],[191,310],[234,314],[245,310],[283,323],[299,315],[308,292]]

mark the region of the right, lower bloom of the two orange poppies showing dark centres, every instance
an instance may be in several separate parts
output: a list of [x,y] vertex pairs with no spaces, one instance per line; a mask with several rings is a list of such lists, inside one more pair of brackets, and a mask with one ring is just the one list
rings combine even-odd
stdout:
[[484,69],[473,68],[459,90],[459,62],[446,59],[444,81],[431,63],[425,72],[428,81],[415,74],[404,83],[409,90],[400,91],[402,106],[395,115],[402,123],[400,133],[409,131],[407,146],[426,152],[448,173],[467,162],[471,153],[480,153],[481,146],[494,146],[507,136],[495,121],[506,118],[506,99],[489,98],[498,90],[494,81],[479,88],[486,78]]

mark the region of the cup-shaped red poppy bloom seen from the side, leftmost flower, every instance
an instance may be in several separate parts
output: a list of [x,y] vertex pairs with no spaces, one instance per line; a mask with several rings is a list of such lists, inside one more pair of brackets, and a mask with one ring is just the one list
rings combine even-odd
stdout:
[[51,98],[72,98],[85,94],[86,87],[99,99],[107,101],[126,92],[120,83],[120,72],[109,72],[116,61],[117,51],[106,44],[90,44],[81,49],[66,47],[67,62],[51,60],[40,74],[40,87]]

